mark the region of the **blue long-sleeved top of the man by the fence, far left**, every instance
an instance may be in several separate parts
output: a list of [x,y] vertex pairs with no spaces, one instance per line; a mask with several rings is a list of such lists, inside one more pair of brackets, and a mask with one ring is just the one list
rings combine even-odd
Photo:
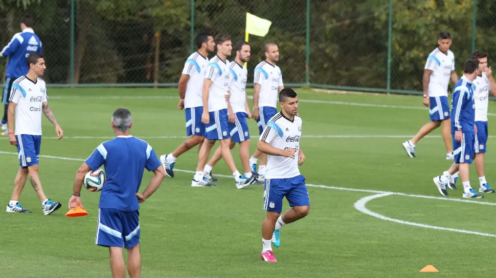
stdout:
[[41,54],[41,41],[33,29],[26,28],[21,33],[15,34],[7,44],[0,56],[9,57],[7,65],[7,78],[19,78],[29,71],[26,58],[31,53]]

